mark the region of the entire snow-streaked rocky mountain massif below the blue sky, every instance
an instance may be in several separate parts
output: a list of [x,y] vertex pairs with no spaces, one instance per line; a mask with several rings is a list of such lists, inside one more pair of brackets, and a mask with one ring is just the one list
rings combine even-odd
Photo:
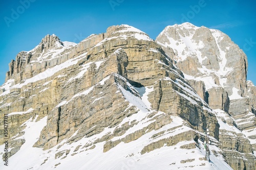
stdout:
[[78,44],[47,35],[10,62],[0,86],[0,167],[255,169],[246,73],[227,35],[191,23],[156,40],[128,25]]

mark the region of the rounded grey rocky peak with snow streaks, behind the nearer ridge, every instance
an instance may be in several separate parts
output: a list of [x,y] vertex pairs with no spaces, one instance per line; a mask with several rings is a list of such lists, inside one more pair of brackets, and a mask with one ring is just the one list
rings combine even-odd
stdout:
[[186,22],[166,27],[156,41],[186,75],[205,80],[206,89],[220,86],[231,95],[234,85],[246,95],[247,58],[226,34]]

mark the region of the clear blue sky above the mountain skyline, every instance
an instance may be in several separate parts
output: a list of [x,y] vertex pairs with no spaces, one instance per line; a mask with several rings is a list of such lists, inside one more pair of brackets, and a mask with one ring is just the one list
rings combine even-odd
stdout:
[[4,83],[11,59],[20,51],[34,48],[47,34],[78,43],[91,34],[105,32],[109,26],[127,24],[155,39],[166,26],[185,21],[229,35],[246,53],[247,80],[256,84],[255,7],[254,0],[2,0],[0,84]]

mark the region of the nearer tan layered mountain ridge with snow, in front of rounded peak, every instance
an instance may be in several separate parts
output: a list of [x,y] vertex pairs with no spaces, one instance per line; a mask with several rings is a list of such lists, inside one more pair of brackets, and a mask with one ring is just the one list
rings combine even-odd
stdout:
[[[205,82],[185,79],[186,70],[175,60],[175,48],[164,48],[127,25],[109,27],[106,33],[91,35],[78,44],[66,42],[66,47],[55,35],[47,35],[40,44],[17,55],[0,87],[1,115],[6,113],[12,120],[10,160],[32,146],[39,152],[32,154],[34,161],[27,165],[12,167],[74,168],[72,159],[80,160],[75,166],[78,169],[255,167],[253,139],[237,128],[238,119],[233,120],[228,112],[231,95],[226,93],[227,103],[220,107],[214,99],[221,96],[209,91],[207,97]],[[249,81],[248,85],[252,91],[248,108],[254,108],[255,86]],[[222,98],[223,94],[224,90]],[[235,100],[235,104],[241,103]],[[244,106],[243,100],[240,106]],[[251,113],[246,114],[255,125]],[[27,137],[33,133],[29,126],[41,127],[33,140]],[[251,129],[243,128],[250,136]],[[202,149],[206,129],[211,141],[210,163],[204,160]],[[175,158],[164,150],[183,156],[189,151],[196,154]],[[113,164],[106,154],[119,161]],[[104,163],[93,163],[93,155]],[[82,164],[79,157],[90,163]],[[127,164],[129,160],[133,165]]]

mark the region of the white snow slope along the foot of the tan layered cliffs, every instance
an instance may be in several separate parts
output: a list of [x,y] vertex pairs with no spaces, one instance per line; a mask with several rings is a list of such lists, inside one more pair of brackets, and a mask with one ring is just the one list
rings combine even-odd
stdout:
[[[150,112],[148,112],[150,113]],[[138,118],[142,114],[141,112],[134,115],[133,118]],[[161,114],[161,112],[160,112]],[[146,116],[144,114],[142,117]],[[140,116],[141,117],[141,116]],[[104,142],[96,143],[94,149],[79,148],[77,152],[74,152],[77,145],[84,145],[88,142],[92,142],[95,139],[101,138],[104,134],[112,132],[114,128],[105,128],[105,130],[99,134],[91,137],[83,137],[77,142],[71,144],[65,143],[68,139],[61,141],[52,149],[43,151],[41,148],[34,148],[33,144],[39,137],[40,131],[46,125],[47,117],[42,118],[38,122],[35,119],[29,119],[24,125],[26,125],[25,135],[23,136],[26,142],[22,145],[22,148],[9,159],[9,166],[4,166],[3,163],[0,164],[1,169],[231,169],[227,163],[224,162],[222,156],[216,157],[212,152],[210,155],[211,162],[205,160],[199,160],[205,156],[205,152],[202,150],[203,144],[200,142],[200,147],[195,149],[180,149],[184,144],[193,143],[191,141],[181,141],[173,146],[167,147],[164,145],[159,149],[155,149],[149,153],[143,155],[140,151],[145,145],[152,143],[154,141],[160,140],[161,138],[166,138],[174,136],[179,133],[184,133],[185,131],[191,130],[188,127],[182,126],[183,120],[180,117],[171,116],[173,122],[160,128],[157,131],[151,131],[145,133],[143,136],[137,140],[131,141],[129,143],[119,143],[108,152],[103,153]],[[130,121],[131,121],[130,120]],[[146,122],[147,120],[144,120]],[[138,124],[134,129],[142,129],[147,126],[147,124]],[[181,126],[181,127],[178,127]],[[167,132],[169,128],[175,128],[173,131]],[[154,139],[151,137],[165,131],[165,133]],[[75,132],[77,133],[77,131]],[[132,131],[130,132],[132,133]],[[117,137],[118,139],[120,137]],[[113,139],[112,139],[113,140]],[[0,146],[3,149],[4,145]],[[210,145],[210,149],[215,149],[215,147]],[[71,150],[66,158],[65,154],[59,158],[55,159],[55,154],[60,151]],[[77,153],[72,156],[73,153]],[[185,156],[185,157],[184,157]],[[195,159],[194,161],[181,163],[182,160]],[[42,164],[46,160],[46,163]],[[55,166],[56,164],[59,164]],[[205,164],[202,166],[202,164]]]

